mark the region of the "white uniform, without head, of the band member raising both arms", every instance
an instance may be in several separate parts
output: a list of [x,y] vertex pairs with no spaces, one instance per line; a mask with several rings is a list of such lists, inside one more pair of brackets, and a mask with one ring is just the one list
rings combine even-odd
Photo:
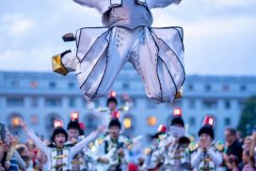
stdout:
[[88,137],[83,139],[83,141],[77,143],[73,147],[64,147],[64,148],[50,148],[47,147],[44,142],[40,140],[40,138],[32,131],[27,130],[27,135],[31,138],[35,145],[40,148],[41,152],[43,152],[47,157],[47,170],[72,170],[72,159],[73,157],[79,153],[79,151],[83,150],[88,146],[88,142],[92,141],[98,136],[97,132],[91,132]]

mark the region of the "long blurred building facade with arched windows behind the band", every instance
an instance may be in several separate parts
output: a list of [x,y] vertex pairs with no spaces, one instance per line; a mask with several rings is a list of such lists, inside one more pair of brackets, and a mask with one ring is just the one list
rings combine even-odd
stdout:
[[[189,134],[197,136],[203,117],[208,114],[216,119],[216,139],[224,140],[225,128],[238,125],[245,101],[256,94],[255,87],[256,77],[189,75],[184,84],[184,98],[155,104],[146,97],[136,72],[126,66],[113,89],[120,105],[125,104],[127,97],[133,101],[130,110],[121,113],[126,118],[125,133],[144,134],[147,143],[160,124],[169,125],[174,107],[182,108]],[[106,98],[86,100],[74,74],[64,77],[54,72],[0,72],[0,121],[11,132],[23,133],[17,119],[22,117],[30,128],[48,138],[55,119],[62,119],[67,125],[70,114],[76,111],[88,133],[100,123],[92,114],[93,108],[105,103]]]

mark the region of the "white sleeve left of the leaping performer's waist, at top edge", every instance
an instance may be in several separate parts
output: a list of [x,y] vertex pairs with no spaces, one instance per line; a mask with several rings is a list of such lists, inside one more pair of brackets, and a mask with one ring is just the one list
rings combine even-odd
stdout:
[[96,8],[101,14],[109,7],[108,0],[73,0],[75,3],[88,8]]

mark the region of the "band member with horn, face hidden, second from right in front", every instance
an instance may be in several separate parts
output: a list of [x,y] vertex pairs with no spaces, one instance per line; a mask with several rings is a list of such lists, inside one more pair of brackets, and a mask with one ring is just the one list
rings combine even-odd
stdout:
[[160,151],[165,155],[162,170],[184,171],[190,169],[188,145],[190,140],[184,136],[184,120],[181,108],[174,109],[168,137],[159,145]]

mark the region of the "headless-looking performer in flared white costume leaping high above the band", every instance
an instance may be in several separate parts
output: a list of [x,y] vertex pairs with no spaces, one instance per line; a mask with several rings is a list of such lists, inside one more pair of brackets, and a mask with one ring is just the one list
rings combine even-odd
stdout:
[[[184,45],[181,27],[152,28],[152,8],[181,0],[74,0],[96,8],[106,27],[81,28],[77,50],[54,56],[54,70],[76,76],[85,96],[108,94],[126,61],[144,82],[149,98],[160,103],[181,97],[184,84]],[[61,66],[57,69],[56,66]]]

